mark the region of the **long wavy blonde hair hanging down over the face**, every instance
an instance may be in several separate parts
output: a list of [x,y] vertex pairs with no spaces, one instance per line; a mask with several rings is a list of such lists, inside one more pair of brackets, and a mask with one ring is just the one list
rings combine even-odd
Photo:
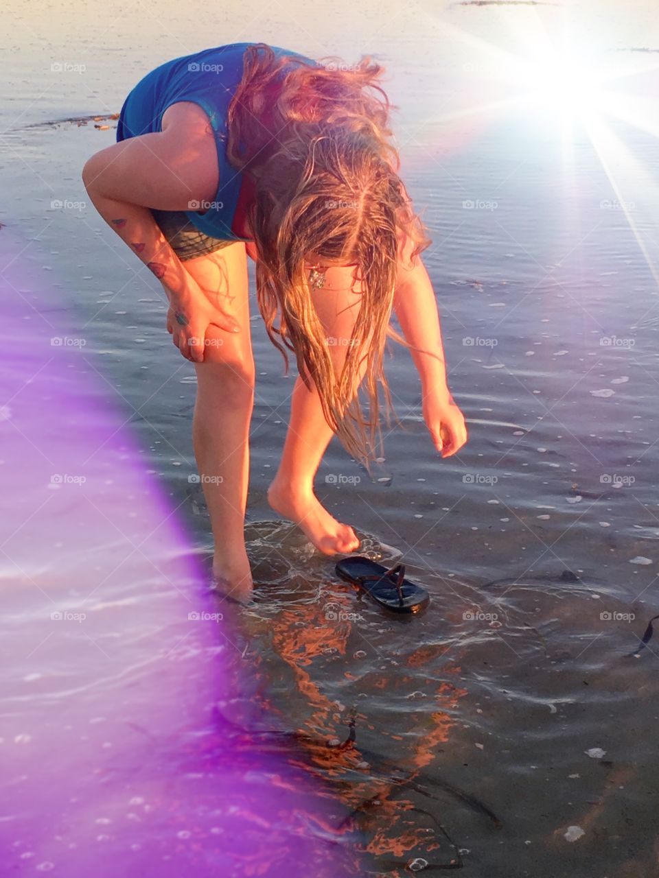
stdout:
[[[254,176],[250,225],[257,247],[257,300],[272,343],[293,351],[301,378],[318,390],[326,421],[353,457],[377,457],[382,386],[393,411],[383,354],[400,242],[413,242],[410,261],[431,243],[397,174],[388,142],[392,105],[377,80],[384,68],[366,56],[349,66],[323,59],[313,67],[296,56],[277,58],[264,43],[248,47],[243,78],[228,107],[228,160]],[[283,70],[286,66],[286,70]],[[335,374],[329,342],[315,313],[304,263],[358,265],[358,317]],[[364,366],[368,416],[358,395]]]

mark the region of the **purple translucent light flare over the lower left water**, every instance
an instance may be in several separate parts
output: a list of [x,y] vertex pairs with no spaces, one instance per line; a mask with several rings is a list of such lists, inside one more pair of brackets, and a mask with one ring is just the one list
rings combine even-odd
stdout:
[[8,232],[0,874],[356,874],[344,804],[257,730],[249,641],[91,333]]

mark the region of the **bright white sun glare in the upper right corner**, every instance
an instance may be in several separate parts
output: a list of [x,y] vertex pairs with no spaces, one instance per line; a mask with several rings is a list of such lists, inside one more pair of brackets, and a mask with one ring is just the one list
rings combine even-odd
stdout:
[[569,176],[576,143],[590,141],[611,187],[600,201],[625,217],[659,284],[652,241],[643,232],[659,201],[646,157],[648,150],[654,155],[647,135],[659,138],[656,50],[625,45],[621,30],[584,32],[567,7],[543,16],[507,10],[490,18],[488,29],[479,21],[472,31],[441,19],[458,71],[451,104],[432,120],[442,127],[442,143],[467,148],[488,126],[508,126],[513,136],[530,129],[547,143],[560,142],[557,155]]

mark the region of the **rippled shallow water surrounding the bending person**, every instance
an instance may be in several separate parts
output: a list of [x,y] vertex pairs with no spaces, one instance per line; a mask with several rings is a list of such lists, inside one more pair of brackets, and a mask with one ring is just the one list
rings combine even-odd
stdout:
[[[389,62],[470,441],[445,461],[433,451],[396,349],[387,374],[403,428],[388,433],[373,480],[336,444],[322,464],[330,511],[374,558],[402,557],[431,590],[422,618],[388,618],[267,507],[293,378],[255,306],[247,536],[260,585],[222,626],[191,630],[191,609],[214,608],[206,510],[189,481],[192,366],[164,330],[159,284],[91,206],[75,206],[84,158],[113,128],[45,123],[117,112],[143,72],[207,40],[181,11],[117,17],[92,4],[72,29],[65,5],[52,9],[46,27],[10,7],[0,106],[12,315],[0,400],[3,874],[44,864],[83,874],[90,863],[104,874],[107,850],[127,874],[155,863],[157,874],[259,874],[249,870],[270,860],[248,862],[226,832],[217,842],[218,821],[231,819],[218,801],[236,781],[252,808],[264,778],[292,765],[310,784],[308,818],[296,823],[288,798],[287,820],[259,813],[250,836],[279,851],[272,870],[290,868],[302,844],[297,861],[319,875],[403,874],[410,863],[479,876],[657,874],[655,642],[634,656],[659,603],[659,205],[638,171],[653,167],[654,138],[613,129],[634,157],[627,167],[614,140],[598,156],[577,131],[566,148],[545,119],[438,120],[473,83],[428,95],[429,77],[443,83],[450,66],[431,54],[441,31],[428,11],[399,18],[399,40],[392,17],[366,48],[354,35],[320,39],[307,18],[291,39],[265,11],[247,35],[228,17],[212,41]],[[378,20],[375,7],[357,14],[353,33]],[[156,39],[131,31],[140,16]],[[87,69],[58,78],[57,61]],[[44,353],[34,341],[53,336],[84,343]],[[81,437],[101,453],[83,455]],[[53,473],[86,481],[53,490]],[[83,609],[68,627],[50,619]],[[575,826],[584,834],[570,842]],[[214,859],[222,851],[233,866]]]

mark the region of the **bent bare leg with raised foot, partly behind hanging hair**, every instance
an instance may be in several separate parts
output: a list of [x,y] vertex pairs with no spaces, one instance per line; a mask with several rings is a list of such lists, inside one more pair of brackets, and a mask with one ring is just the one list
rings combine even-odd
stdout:
[[[357,319],[358,285],[348,279],[351,270],[331,269],[325,285],[313,291],[315,310],[327,333],[335,371],[340,371],[346,343]],[[318,392],[297,378],[291,418],[279,471],[268,491],[273,509],[298,524],[317,549],[326,555],[358,549],[359,540],[348,524],[329,515],[314,493],[314,477],[333,432],[322,414]]]

